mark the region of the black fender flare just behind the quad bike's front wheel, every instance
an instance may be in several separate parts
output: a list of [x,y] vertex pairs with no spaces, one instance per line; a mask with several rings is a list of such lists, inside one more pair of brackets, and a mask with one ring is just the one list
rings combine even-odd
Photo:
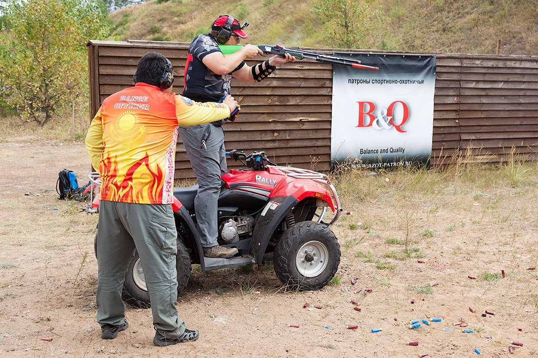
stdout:
[[280,221],[284,219],[289,210],[293,206],[297,205],[299,201],[293,196],[280,196],[271,198],[263,211],[261,211],[252,232],[252,240],[250,242],[249,253],[256,260],[257,264],[261,264],[263,260],[267,244],[273,235],[273,232],[277,229]]

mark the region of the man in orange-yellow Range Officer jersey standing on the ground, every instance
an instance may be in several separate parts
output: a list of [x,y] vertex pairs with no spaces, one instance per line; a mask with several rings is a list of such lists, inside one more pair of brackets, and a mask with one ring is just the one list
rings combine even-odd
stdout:
[[221,120],[238,107],[233,97],[203,105],[172,93],[172,63],[144,55],[134,87],[104,99],[91,122],[86,147],[101,175],[97,322],[101,338],[114,339],[128,327],[122,287],[136,247],[151,297],[156,346],[194,341],[175,307],[178,295],[172,212],[178,125]]

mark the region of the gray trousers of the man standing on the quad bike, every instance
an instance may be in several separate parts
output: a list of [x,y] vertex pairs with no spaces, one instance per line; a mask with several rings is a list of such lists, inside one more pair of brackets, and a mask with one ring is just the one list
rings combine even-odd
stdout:
[[[179,127],[199,189],[194,198],[196,222],[202,247],[217,245],[217,203],[221,175],[226,174],[224,130],[213,124]],[[204,135],[205,134],[205,135]],[[202,144],[205,140],[205,146]]]

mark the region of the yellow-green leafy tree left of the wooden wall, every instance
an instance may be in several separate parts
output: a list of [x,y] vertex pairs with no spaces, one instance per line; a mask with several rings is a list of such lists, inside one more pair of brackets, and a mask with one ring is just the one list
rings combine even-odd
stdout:
[[94,0],[11,1],[0,32],[0,90],[19,113],[44,126],[88,90],[86,42],[110,25]]

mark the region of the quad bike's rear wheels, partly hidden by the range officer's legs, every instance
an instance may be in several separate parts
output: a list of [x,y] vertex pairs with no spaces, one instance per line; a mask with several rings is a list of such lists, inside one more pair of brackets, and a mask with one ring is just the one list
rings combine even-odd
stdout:
[[[185,290],[189,282],[190,255],[187,247],[181,240],[178,240],[178,254],[175,256],[175,267],[178,271],[178,295]],[[95,255],[97,255],[97,235],[94,241]],[[138,251],[134,250],[134,257],[129,261],[123,283],[122,299],[126,304],[134,307],[147,308],[151,306],[150,293],[147,291],[144,271],[138,256]]]

